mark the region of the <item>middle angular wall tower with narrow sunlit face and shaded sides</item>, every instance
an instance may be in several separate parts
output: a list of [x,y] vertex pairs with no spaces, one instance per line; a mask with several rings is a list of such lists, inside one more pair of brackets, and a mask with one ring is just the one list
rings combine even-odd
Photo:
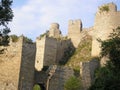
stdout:
[[64,52],[68,47],[73,47],[70,39],[59,40],[53,37],[43,37],[36,41],[36,61],[35,68],[41,71],[43,66],[58,64],[63,58]]

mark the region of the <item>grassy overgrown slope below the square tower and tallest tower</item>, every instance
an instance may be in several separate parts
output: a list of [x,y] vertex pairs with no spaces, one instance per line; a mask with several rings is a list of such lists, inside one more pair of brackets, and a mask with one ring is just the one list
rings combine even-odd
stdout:
[[91,47],[92,46],[92,38],[87,35],[80,42],[78,48],[76,48],[72,57],[68,60],[67,64],[70,67],[73,67],[75,71],[79,71],[80,69],[80,61],[88,61],[91,60]]

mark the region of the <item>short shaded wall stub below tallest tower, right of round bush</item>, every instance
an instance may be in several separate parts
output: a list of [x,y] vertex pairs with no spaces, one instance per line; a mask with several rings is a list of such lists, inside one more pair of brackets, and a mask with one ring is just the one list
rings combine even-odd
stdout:
[[94,82],[94,73],[98,67],[99,61],[97,60],[80,62],[80,76],[83,90],[87,90]]

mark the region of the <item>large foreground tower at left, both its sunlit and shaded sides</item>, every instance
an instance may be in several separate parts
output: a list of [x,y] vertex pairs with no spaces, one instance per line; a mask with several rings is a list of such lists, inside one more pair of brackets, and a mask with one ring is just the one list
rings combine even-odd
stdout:
[[3,48],[5,50],[0,54],[0,89],[32,90],[35,44],[24,43],[21,36],[17,42],[10,42]]

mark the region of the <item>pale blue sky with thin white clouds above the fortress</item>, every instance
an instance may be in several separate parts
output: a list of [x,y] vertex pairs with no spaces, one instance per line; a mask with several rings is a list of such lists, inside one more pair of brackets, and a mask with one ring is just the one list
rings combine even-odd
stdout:
[[35,41],[51,23],[59,23],[62,34],[67,35],[69,20],[81,19],[83,27],[91,27],[98,7],[110,2],[120,10],[120,0],[13,0],[10,34],[23,34]]

